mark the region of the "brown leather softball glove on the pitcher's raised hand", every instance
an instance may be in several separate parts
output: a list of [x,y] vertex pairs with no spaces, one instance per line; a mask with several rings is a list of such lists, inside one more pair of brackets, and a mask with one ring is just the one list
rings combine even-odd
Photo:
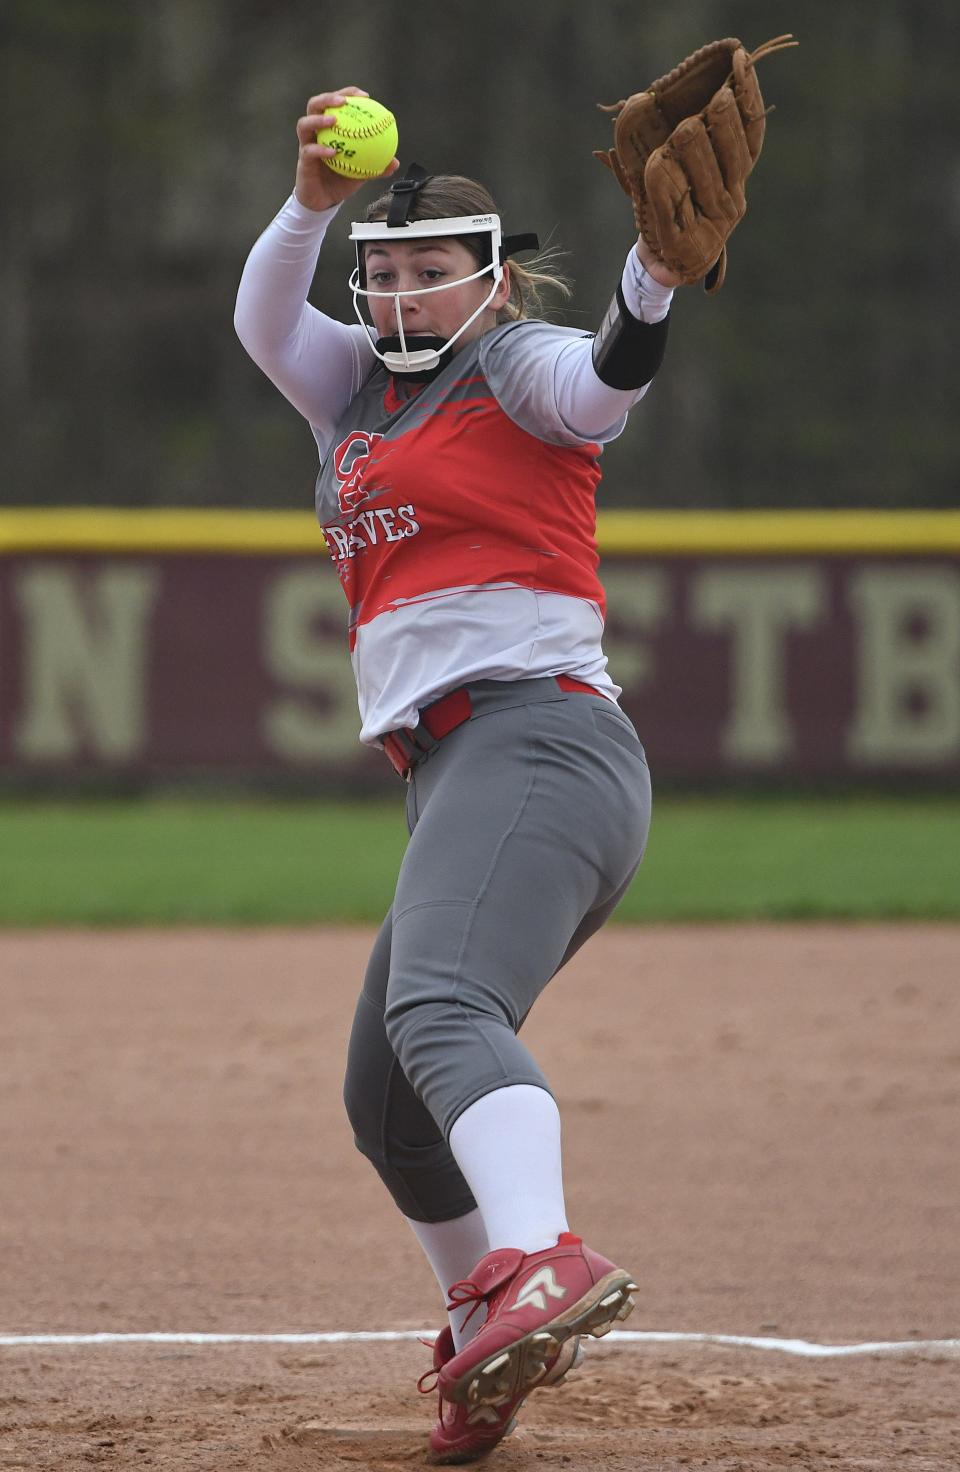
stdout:
[[726,241],[747,212],[744,185],[763,147],[766,118],[757,62],[791,35],[747,52],[727,37],[688,56],[614,113],[614,146],[595,158],[633,202],[638,233],[683,284],[719,291]]

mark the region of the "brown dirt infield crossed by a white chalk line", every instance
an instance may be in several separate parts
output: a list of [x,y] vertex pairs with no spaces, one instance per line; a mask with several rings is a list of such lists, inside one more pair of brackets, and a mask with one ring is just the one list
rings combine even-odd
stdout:
[[[340,1107],[355,930],[0,936],[0,1334],[439,1322]],[[524,1036],[627,1329],[960,1340],[960,927],[610,929]],[[426,1463],[417,1342],[0,1347],[0,1468]],[[499,1472],[960,1466],[960,1356],[598,1344]]]

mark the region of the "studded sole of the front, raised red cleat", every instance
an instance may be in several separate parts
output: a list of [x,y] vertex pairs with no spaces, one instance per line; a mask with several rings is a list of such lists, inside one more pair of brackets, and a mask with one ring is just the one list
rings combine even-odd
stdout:
[[542,1329],[533,1329],[515,1344],[508,1344],[505,1350],[498,1350],[489,1359],[471,1366],[465,1375],[445,1388],[443,1398],[458,1406],[502,1406],[514,1395],[527,1395],[532,1390],[558,1385],[568,1370],[576,1367],[571,1357],[571,1363],[560,1375],[554,1373],[567,1341],[582,1334],[602,1340],[617,1320],[626,1319],[633,1312],[635,1300],[630,1295],[635,1292],[636,1284],[629,1273],[620,1269],[607,1273],[565,1313],[551,1319]]

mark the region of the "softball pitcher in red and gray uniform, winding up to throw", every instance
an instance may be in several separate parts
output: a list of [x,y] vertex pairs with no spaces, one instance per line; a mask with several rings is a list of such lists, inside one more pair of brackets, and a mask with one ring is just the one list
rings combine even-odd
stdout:
[[504,238],[476,183],[414,165],[352,228],[359,322],[322,315],[306,294],[358,184],[315,134],[350,93],[297,124],[294,193],[236,325],[317,439],[361,740],[408,783],[345,1100],[445,1291],[421,1390],[439,1384],[436,1459],[468,1462],[633,1304],[630,1275],[568,1229],[560,1114],[517,1033],[646,842],[643,749],[601,648],[595,492],[661,361],[673,278],[640,243],[596,334],[532,318],[545,278],[515,255],[534,238]]

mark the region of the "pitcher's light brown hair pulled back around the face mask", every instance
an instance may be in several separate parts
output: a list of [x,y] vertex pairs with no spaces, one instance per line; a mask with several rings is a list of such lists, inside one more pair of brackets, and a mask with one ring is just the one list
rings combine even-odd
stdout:
[[[367,221],[386,219],[392,197],[387,191],[375,199],[367,209]],[[431,174],[414,196],[409,219],[453,219],[458,215],[499,215],[499,210],[490,193],[476,180],[464,178],[462,174]],[[487,263],[483,258],[481,241],[486,243],[489,237],[461,236],[458,238],[480,265]],[[515,322],[524,316],[540,316],[548,308],[545,296],[549,293],[557,293],[561,300],[567,300],[573,290],[571,283],[557,269],[562,256],[564,252],[558,246],[546,246],[524,265],[507,258],[509,262],[509,297],[496,314],[498,324]]]

